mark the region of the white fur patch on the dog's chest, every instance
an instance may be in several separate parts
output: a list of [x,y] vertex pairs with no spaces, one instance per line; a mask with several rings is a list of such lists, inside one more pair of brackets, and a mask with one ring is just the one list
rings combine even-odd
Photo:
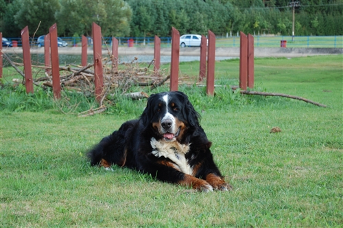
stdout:
[[152,154],[156,157],[165,157],[173,161],[174,168],[185,174],[191,175],[193,170],[189,166],[185,155],[189,152],[189,144],[179,144],[177,141],[157,141],[151,138]]

